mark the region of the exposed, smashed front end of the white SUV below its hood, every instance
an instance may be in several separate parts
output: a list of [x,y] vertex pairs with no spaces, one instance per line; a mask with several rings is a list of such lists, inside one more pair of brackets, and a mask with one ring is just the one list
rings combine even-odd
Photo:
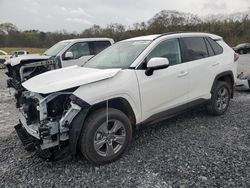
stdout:
[[60,158],[62,153],[74,155],[82,127],[77,119],[82,121],[88,108],[70,91],[46,96],[25,91],[15,129],[27,151],[37,151],[49,159]]

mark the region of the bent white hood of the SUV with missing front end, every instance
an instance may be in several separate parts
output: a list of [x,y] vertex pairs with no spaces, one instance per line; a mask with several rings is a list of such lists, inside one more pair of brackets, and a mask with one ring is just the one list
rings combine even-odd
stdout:
[[115,76],[121,69],[93,69],[71,66],[35,76],[22,85],[31,92],[48,94]]

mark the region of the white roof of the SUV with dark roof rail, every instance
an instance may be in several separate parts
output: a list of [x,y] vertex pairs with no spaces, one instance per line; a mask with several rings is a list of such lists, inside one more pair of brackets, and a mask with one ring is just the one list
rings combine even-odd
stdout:
[[196,36],[206,36],[211,37],[212,39],[221,39],[222,37],[210,33],[199,33],[199,32],[169,32],[169,33],[163,33],[163,34],[154,34],[154,35],[146,35],[146,36],[140,36],[140,37],[134,37],[130,39],[126,39],[124,41],[136,41],[136,40],[155,40],[157,38],[160,38],[162,36],[166,35],[176,35],[176,37],[196,37]]

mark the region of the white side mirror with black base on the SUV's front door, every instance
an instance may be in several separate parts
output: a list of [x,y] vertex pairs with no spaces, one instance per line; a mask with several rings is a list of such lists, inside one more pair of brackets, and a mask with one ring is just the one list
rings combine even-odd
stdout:
[[155,70],[165,69],[169,66],[168,58],[153,57],[147,63],[145,74],[151,76]]

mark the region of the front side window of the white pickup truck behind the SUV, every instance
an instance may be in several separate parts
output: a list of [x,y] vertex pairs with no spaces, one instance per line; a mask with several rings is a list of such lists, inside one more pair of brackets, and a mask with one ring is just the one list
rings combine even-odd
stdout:
[[73,59],[79,59],[82,56],[90,55],[89,45],[87,42],[78,42],[73,44],[67,52],[73,53]]

